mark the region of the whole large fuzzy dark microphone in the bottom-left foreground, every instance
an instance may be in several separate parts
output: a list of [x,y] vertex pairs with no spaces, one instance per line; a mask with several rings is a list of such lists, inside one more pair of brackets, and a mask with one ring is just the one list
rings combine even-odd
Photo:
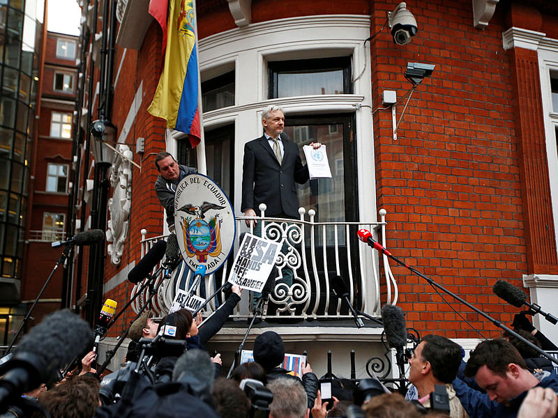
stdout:
[[80,316],[68,310],[46,316],[24,335],[14,355],[0,368],[0,411],[35,389],[56,378],[56,369],[86,350],[91,328]]

